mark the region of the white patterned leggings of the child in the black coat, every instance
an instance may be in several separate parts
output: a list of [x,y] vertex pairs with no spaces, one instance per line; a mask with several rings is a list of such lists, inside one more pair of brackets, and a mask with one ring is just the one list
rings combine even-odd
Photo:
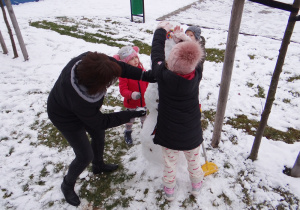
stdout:
[[[179,157],[178,150],[162,147],[164,158],[163,184],[165,187],[174,188],[176,185],[176,165]],[[200,165],[200,146],[187,151],[182,151],[188,163],[188,171],[192,183],[199,183],[203,180],[204,172]]]

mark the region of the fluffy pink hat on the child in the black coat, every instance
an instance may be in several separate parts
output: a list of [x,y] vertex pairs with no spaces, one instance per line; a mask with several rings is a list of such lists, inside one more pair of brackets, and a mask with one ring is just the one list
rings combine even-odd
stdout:
[[197,42],[180,42],[170,52],[168,69],[179,74],[189,74],[194,71],[203,56],[204,51]]

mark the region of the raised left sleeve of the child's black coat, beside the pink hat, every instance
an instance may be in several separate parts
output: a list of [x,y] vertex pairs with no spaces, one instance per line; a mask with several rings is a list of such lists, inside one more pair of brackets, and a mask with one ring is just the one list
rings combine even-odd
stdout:
[[154,32],[151,49],[152,69],[158,65],[158,62],[165,61],[165,42],[167,31],[163,28]]

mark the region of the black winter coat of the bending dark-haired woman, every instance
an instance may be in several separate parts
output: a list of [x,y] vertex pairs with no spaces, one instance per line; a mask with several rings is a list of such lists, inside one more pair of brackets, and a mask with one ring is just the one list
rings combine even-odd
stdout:
[[[52,123],[61,131],[75,131],[80,128],[107,129],[129,122],[132,114],[129,111],[103,114],[99,111],[103,104],[104,95],[86,97],[78,89],[74,71],[81,59],[87,54],[83,53],[73,58],[62,70],[53,89],[51,90],[47,112]],[[122,68],[121,77],[140,79],[142,70],[124,62],[109,57]],[[74,82],[75,81],[75,82]]]

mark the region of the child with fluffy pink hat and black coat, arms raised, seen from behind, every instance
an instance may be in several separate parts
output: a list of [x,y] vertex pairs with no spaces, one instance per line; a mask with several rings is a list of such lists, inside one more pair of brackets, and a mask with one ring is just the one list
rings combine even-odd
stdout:
[[[151,61],[152,70],[144,76],[153,77],[158,84],[158,116],[153,138],[162,148],[164,169],[162,172],[165,198],[175,198],[176,170],[179,153],[183,152],[188,163],[191,194],[200,193],[204,173],[200,164],[200,145],[203,142],[201,113],[199,109],[199,84],[202,79],[204,49],[190,39],[182,39],[165,55],[167,32],[172,26],[161,22],[154,32]],[[174,36],[182,34],[175,27]]]

